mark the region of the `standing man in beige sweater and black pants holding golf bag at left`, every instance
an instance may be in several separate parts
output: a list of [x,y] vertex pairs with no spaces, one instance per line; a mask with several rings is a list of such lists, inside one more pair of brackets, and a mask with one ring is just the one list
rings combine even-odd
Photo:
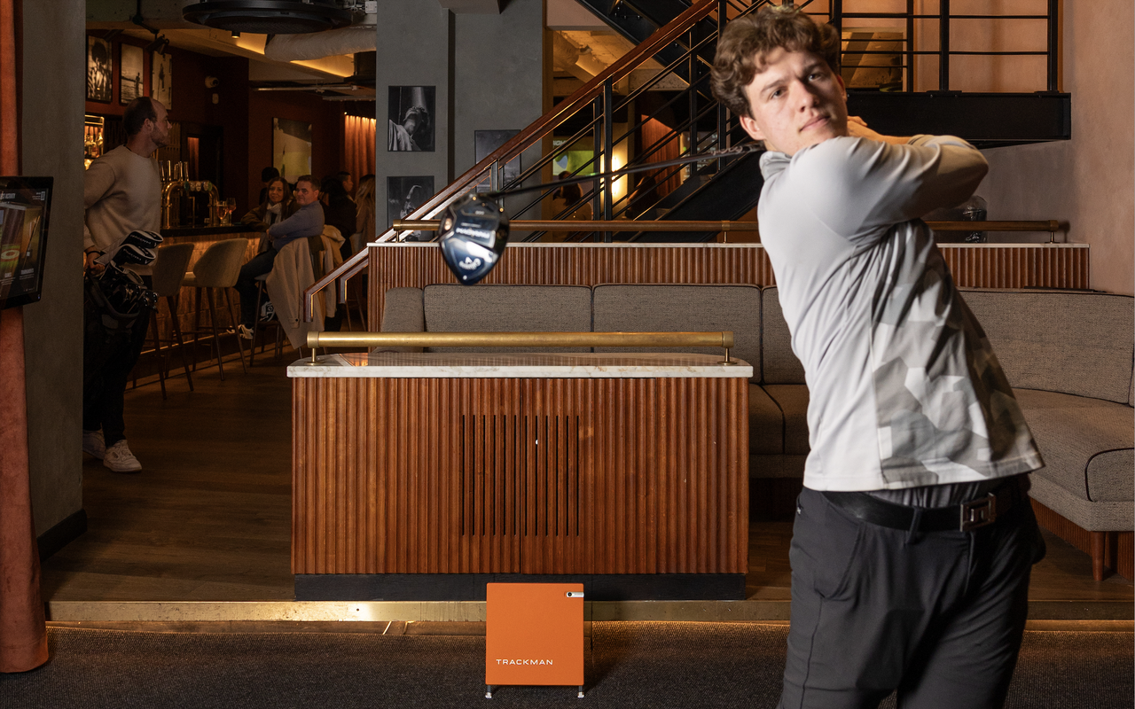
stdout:
[[[83,250],[87,269],[115,242],[134,230],[161,227],[161,175],[153,152],[169,144],[166,107],[140,96],[126,107],[126,145],[87,168],[83,179]],[[90,312],[87,313],[91,314]],[[148,316],[134,321],[128,337],[108,337],[98,318],[85,318],[83,339],[83,450],[118,473],[142,470],[126,445],[123,397],[145,341]]]

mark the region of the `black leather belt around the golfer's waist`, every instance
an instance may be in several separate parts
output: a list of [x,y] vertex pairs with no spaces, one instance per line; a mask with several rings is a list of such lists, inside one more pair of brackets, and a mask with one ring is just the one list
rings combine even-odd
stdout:
[[968,532],[993,524],[1012,507],[1018,496],[1024,493],[1022,481],[1017,478],[1010,478],[985,497],[949,507],[908,507],[866,492],[826,491],[823,496],[843,512],[871,524],[920,532]]

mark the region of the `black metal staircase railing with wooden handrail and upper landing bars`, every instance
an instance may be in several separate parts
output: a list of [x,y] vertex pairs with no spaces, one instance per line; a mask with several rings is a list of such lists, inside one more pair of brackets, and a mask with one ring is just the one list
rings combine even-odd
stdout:
[[[641,0],[648,1],[648,0]],[[801,8],[808,8],[813,6],[814,2],[821,6],[818,11],[809,12],[815,15],[817,18],[824,18],[830,22],[836,28],[842,28],[844,19],[864,19],[864,18],[886,18],[893,19],[905,19],[906,20],[906,34],[902,39],[905,43],[903,49],[899,50],[898,53],[903,56],[902,67],[905,69],[905,92],[914,91],[914,57],[920,54],[938,56],[939,57],[939,91],[949,91],[949,58],[957,54],[984,54],[984,56],[1023,56],[1023,54],[1044,54],[1048,61],[1048,91],[1057,91],[1058,81],[1058,10],[1059,0],[1039,0],[1045,2],[1048,6],[1048,12],[1045,15],[962,15],[952,14],[950,9],[950,0],[939,0],[938,12],[915,12],[914,0],[907,0],[905,12],[878,12],[878,11],[856,11],[858,0],[827,0],[826,3],[823,0],[807,0],[806,2],[798,3]],[[684,98],[689,101],[687,117],[684,119],[671,120],[669,121],[671,126],[669,130],[665,132],[661,137],[656,138],[650,145],[641,146],[641,150],[633,157],[629,158],[629,164],[640,164],[647,166],[651,161],[650,158],[657,155],[662,150],[671,145],[674,140],[682,140],[686,144],[684,149],[680,150],[680,155],[686,155],[691,152],[700,152],[709,147],[716,147],[718,150],[731,147],[735,144],[738,140],[747,141],[748,137],[745,135],[737,121],[737,117],[731,117],[726,111],[725,107],[716,102],[709,96],[709,91],[707,90],[706,83],[709,76],[711,68],[711,52],[707,51],[713,43],[716,42],[716,37],[720,36],[721,31],[724,28],[725,23],[735,19],[737,17],[745,15],[747,12],[755,11],[763,5],[771,3],[772,0],[755,0],[751,2],[746,2],[743,0],[700,0],[693,2],[689,9],[682,11],[672,22],[659,27],[654,34],[647,37],[646,41],[641,42],[634,47],[631,51],[624,54],[622,58],[616,60],[611,67],[600,73],[598,76],[587,82],[581,88],[575,91],[571,96],[561,101],[555,108],[553,108],[548,113],[537,119],[530,126],[521,130],[520,134],[514,136],[512,140],[506,142],[499,149],[494,151],[486,159],[481,160],[479,163],[473,166],[471,169],[466,170],[453,183],[447,185],[436,195],[429,197],[423,204],[413,210],[411,213],[403,216],[403,221],[421,221],[427,220],[440,214],[440,212],[453,203],[455,200],[460,199],[470,191],[473,191],[478,185],[488,183],[488,188],[493,191],[501,191],[502,188],[507,188],[510,186],[516,186],[523,184],[526,180],[533,177],[539,178],[544,170],[548,168],[557,158],[562,157],[565,152],[571,150],[580,141],[586,141],[589,136],[591,140],[592,154],[590,160],[587,160],[583,164],[579,166],[574,171],[571,172],[572,176],[585,174],[585,171],[602,172],[613,169],[615,155],[615,147],[620,146],[623,142],[629,142],[633,136],[640,134],[644,127],[650,120],[654,120],[664,113],[669,109],[676,109],[681,100]],[[623,0],[623,5],[630,9],[634,9],[633,0]],[[823,5],[826,5],[826,9],[823,9]],[[860,6],[861,7],[861,6]],[[646,17],[646,15],[644,15]],[[707,19],[715,19],[716,28],[713,32],[707,29]],[[939,20],[939,48],[933,50],[917,50],[915,49],[915,20]],[[999,19],[1026,19],[1026,20],[1041,20],[1048,22],[1048,47],[1045,51],[956,51],[950,49],[950,20],[970,20],[970,19],[983,19],[983,20],[999,20]],[[659,71],[653,79],[644,84],[642,86],[629,91],[627,95],[620,96],[617,102],[615,99],[614,87],[615,85],[628,79],[631,71],[641,67],[648,59],[657,59],[663,53],[667,57],[674,57],[675,51],[673,47],[678,45],[679,49],[684,49],[684,51],[673,59]],[[664,52],[665,50],[665,52]],[[889,54],[893,56],[896,51],[875,51],[869,49],[854,50],[848,47],[843,52],[844,56],[868,56],[868,54]],[[632,102],[645,94],[647,91],[656,87],[659,82],[662,82],[667,76],[681,76],[684,74],[686,90],[681,92],[675,92],[675,95],[671,96],[664,103],[654,108],[654,110],[648,116],[641,116],[641,118],[636,117],[632,120],[628,120],[628,129],[622,134],[616,136],[614,130],[613,113],[623,109],[628,109],[630,105],[634,105]],[[519,176],[510,179],[507,184],[504,178],[505,166],[515,158],[519,158],[524,151],[538,145],[541,141],[549,140],[553,132],[563,126],[568,120],[575,117],[579,112],[591,110],[590,120],[580,127],[574,135],[565,140],[561,146],[557,149],[547,151],[540,159],[536,161],[535,164],[529,166]],[[678,112],[676,110],[674,111]],[[716,120],[711,120],[713,113],[716,112]],[[699,130],[701,127],[707,127],[706,124],[713,124],[715,130]],[[704,135],[703,135],[704,133]],[[628,154],[630,150],[628,150]],[[725,159],[714,160],[712,164],[698,168],[696,164],[690,164],[688,167],[673,167],[664,168],[657,172],[656,184],[666,184],[675,175],[681,177],[682,172],[686,174],[687,179],[699,179],[722,169],[728,164]],[[600,179],[596,178],[594,185],[586,193],[581,194],[580,202],[574,204],[566,204],[563,209],[554,216],[555,219],[571,219],[573,212],[582,209],[585,203],[590,203],[591,213],[596,221],[623,221],[629,225],[628,231],[633,230],[633,221],[627,219],[627,217],[637,217],[639,214],[651,213],[651,210],[662,208],[662,204],[666,202],[666,195],[663,195],[654,204],[646,205],[645,209],[637,209],[639,214],[632,214],[632,197],[640,197],[641,193],[631,188],[627,188],[624,193],[615,199],[615,185],[616,180],[613,179]],[[628,179],[628,183],[630,180]],[[687,200],[691,199],[692,194],[696,194],[700,185],[689,185],[693,187],[692,189],[686,188],[688,183],[679,180],[682,183],[683,187],[679,194],[679,191],[672,191],[669,194],[674,197],[680,197],[679,204],[684,203]],[[641,186],[641,182],[639,186]],[[514,216],[520,217],[532,210],[552,195],[556,189],[556,186],[549,185],[547,189],[538,192],[537,196],[520,206],[520,209],[512,209],[511,211]],[[657,194],[657,193],[656,193]],[[640,206],[641,202],[639,205]],[[513,205],[510,205],[513,206]],[[674,204],[669,205],[673,208]],[[582,231],[582,230],[580,230]],[[376,240],[378,242],[389,242],[396,239],[400,231],[396,229],[388,229],[381,234]],[[531,233],[529,236],[524,237],[524,240],[535,240],[544,236],[543,233]],[[588,238],[588,233],[577,233],[573,239]],[[599,238],[599,233],[591,233],[591,238]],[[612,240],[614,234],[612,231],[603,231],[603,240]],[[353,276],[361,272],[367,268],[367,251],[361,251],[351,259],[348,259],[340,268],[336,269],[334,272],[327,275],[325,278],[320,279],[311,288],[308,289],[304,297],[305,304],[305,320],[310,321],[312,319],[312,302],[313,296],[319,290],[323,289],[328,285],[336,282],[339,295],[339,301],[343,299],[343,294],[346,290],[346,281]]]

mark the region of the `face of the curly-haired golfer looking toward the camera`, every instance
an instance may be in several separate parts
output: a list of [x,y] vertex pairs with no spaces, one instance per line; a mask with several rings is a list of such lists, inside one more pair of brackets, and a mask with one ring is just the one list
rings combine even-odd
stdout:
[[794,155],[848,134],[843,78],[812,52],[772,50],[745,95],[751,116],[741,116],[741,127],[770,150]]

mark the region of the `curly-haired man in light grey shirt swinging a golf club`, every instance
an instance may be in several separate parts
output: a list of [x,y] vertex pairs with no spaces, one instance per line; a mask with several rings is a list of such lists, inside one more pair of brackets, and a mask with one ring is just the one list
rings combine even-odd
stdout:
[[960,138],[849,118],[839,52],[833,27],[766,7],[730,23],[713,69],[768,150],[762,242],[810,395],[780,706],[1000,707],[1043,463],[919,219],[987,167]]

